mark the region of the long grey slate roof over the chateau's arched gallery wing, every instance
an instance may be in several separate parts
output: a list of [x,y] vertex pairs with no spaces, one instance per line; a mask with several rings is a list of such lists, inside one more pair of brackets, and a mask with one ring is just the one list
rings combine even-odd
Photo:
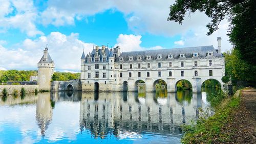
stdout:
[[[180,54],[185,54],[186,58],[191,58],[193,53],[198,53],[199,57],[206,57],[207,52],[213,52],[215,57],[221,57],[222,55],[217,53],[213,46],[200,46],[200,47],[188,47],[188,48],[173,48],[173,49],[160,49],[160,50],[145,50],[145,51],[132,51],[122,52],[119,57],[123,57],[124,61],[129,60],[129,56],[133,56],[134,60],[137,60],[137,56],[141,56],[142,60],[146,59],[147,55],[151,58],[157,59],[159,54],[162,55],[162,59],[167,59],[169,54],[173,54],[174,58],[179,58]],[[117,59],[119,61],[119,58]]]

